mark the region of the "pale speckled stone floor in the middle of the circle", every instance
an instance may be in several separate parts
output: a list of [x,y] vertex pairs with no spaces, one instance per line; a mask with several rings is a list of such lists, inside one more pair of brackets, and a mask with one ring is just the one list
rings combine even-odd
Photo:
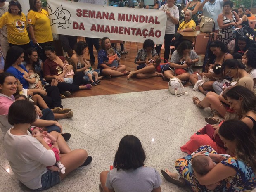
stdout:
[[[93,161],[46,191],[98,192],[100,172],[109,169],[124,135],[135,135],[141,140],[147,154],[146,166],[156,168],[160,175],[163,168],[175,171],[175,159],[186,155],[180,146],[206,124],[204,117],[210,113],[192,102],[193,96],[203,99],[203,94],[192,91],[192,87],[184,90],[190,95],[175,97],[166,89],[64,99],[63,106],[73,109],[74,114],[71,119],[59,121],[64,132],[71,133],[67,143],[71,149],[86,149]],[[162,179],[163,192],[190,191]],[[5,159],[3,135],[0,135],[0,188],[2,192],[29,191],[17,180]]]

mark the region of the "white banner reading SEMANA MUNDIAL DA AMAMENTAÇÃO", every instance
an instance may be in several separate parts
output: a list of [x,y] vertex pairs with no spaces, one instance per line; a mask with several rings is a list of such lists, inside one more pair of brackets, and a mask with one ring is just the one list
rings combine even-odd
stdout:
[[152,9],[112,7],[62,0],[48,0],[52,33],[144,42],[164,42],[167,16]]

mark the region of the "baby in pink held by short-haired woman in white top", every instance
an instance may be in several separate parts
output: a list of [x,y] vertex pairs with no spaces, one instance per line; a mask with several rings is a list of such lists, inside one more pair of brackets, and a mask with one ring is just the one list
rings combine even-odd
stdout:
[[60,158],[59,158],[59,149],[57,149],[56,147],[52,147],[52,145],[55,144],[56,146],[56,139],[55,137],[53,137],[52,135],[50,135],[47,131],[43,130],[42,128],[39,127],[34,127],[31,128],[32,131],[32,136],[33,137],[41,137],[49,147],[51,147],[52,151],[55,154],[55,158],[56,158],[56,165],[57,166],[47,166],[47,169],[51,170],[51,171],[60,171],[62,174],[65,174],[65,169],[66,167],[64,167],[64,165],[60,162]]

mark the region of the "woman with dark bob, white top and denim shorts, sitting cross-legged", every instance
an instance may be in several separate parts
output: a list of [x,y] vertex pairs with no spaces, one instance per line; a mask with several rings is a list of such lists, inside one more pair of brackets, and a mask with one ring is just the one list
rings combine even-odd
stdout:
[[53,131],[59,146],[60,161],[66,167],[65,173],[47,170],[53,166],[56,157],[52,149],[41,137],[32,137],[28,132],[36,121],[34,105],[27,100],[14,102],[9,108],[8,121],[13,125],[5,135],[5,154],[9,164],[21,183],[33,190],[46,190],[63,180],[66,175],[92,161],[84,149],[71,150],[63,137]]

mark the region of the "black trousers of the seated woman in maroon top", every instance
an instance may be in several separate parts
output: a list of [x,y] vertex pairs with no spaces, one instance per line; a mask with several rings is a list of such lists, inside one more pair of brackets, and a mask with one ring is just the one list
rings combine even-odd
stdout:
[[78,72],[74,75],[73,84],[60,82],[58,83],[57,87],[59,88],[59,92],[63,92],[63,91],[74,92],[79,90],[79,85],[81,85],[82,81],[83,81],[83,73]]

